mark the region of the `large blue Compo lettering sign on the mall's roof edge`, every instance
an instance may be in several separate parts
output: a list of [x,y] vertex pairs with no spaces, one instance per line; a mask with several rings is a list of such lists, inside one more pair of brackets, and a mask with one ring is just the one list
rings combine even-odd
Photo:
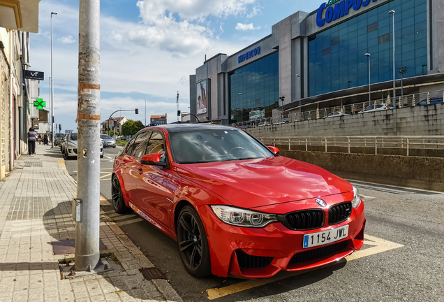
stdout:
[[[316,15],[316,24],[322,27],[325,23],[330,23],[340,17],[348,15],[350,8],[359,10],[361,6],[368,6],[370,1],[376,0],[329,0],[328,3],[322,3],[318,8]],[[323,10],[325,10],[325,18],[322,17]]]

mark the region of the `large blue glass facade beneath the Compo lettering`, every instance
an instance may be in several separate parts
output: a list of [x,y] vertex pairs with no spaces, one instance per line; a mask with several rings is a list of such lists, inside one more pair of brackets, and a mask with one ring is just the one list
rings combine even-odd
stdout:
[[427,74],[427,0],[394,0],[309,37],[309,96],[393,80],[392,15],[395,69],[404,78]]

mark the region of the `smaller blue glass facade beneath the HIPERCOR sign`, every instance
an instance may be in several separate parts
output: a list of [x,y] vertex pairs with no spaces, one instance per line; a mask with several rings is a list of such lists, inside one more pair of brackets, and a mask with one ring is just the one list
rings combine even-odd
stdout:
[[279,102],[279,52],[229,73],[228,91],[233,122],[272,117]]

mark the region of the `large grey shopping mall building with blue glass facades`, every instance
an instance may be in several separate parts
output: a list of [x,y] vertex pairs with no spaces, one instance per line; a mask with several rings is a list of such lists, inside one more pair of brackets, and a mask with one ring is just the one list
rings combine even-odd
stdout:
[[330,0],[311,13],[298,11],[269,36],[195,69],[191,113],[200,122],[228,124],[369,101],[369,68],[371,99],[386,99],[393,96],[393,59],[397,96],[401,67],[404,95],[443,89],[443,6],[443,0]]

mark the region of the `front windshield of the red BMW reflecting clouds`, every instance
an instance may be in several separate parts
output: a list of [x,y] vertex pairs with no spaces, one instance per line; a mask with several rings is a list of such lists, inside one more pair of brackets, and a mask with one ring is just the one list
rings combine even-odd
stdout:
[[202,129],[170,134],[179,164],[274,157],[266,147],[237,129]]

